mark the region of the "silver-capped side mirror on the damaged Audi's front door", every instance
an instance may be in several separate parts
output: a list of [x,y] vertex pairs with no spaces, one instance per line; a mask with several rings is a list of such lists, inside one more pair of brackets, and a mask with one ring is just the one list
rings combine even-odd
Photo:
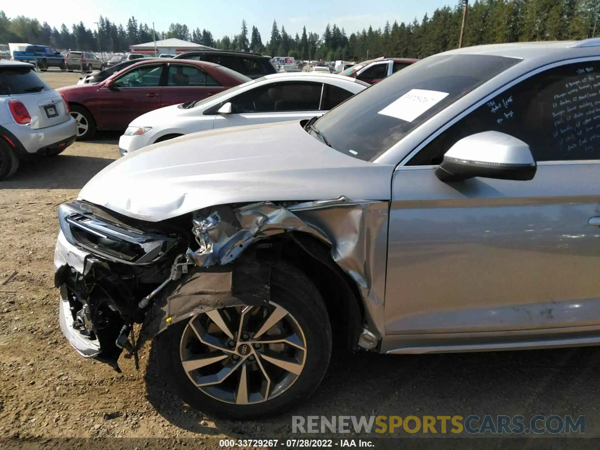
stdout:
[[506,180],[533,179],[537,164],[529,145],[499,131],[484,131],[463,137],[444,155],[436,169],[443,182],[480,176]]

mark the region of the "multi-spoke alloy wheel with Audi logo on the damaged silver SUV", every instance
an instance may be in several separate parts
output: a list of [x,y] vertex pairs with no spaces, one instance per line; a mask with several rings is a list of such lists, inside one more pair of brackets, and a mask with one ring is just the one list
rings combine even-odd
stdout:
[[296,319],[271,302],[197,314],[185,327],[179,353],[200,391],[224,403],[253,404],[295,383],[307,348]]

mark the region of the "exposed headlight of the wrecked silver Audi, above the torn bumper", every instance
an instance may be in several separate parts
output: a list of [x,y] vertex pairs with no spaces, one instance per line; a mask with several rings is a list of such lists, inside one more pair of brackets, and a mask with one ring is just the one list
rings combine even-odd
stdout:
[[58,208],[61,230],[68,242],[90,253],[132,265],[155,262],[179,242],[178,236],[146,233],[118,220],[95,215],[85,203],[64,203]]

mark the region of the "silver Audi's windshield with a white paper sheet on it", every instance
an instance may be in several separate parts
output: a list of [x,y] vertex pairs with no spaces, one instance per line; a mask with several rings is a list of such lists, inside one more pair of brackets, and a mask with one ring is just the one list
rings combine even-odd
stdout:
[[332,148],[372,161],[419,125],[520,62],[490,55],[437,55],[350,97],[314,122]]

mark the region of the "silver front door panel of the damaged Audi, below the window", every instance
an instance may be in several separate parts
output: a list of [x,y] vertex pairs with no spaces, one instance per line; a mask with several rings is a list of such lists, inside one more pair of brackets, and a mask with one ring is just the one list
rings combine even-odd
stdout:
[[386,334],[598,325],[598,179],[600,161],[542,162],[527,182],[396,171]]

